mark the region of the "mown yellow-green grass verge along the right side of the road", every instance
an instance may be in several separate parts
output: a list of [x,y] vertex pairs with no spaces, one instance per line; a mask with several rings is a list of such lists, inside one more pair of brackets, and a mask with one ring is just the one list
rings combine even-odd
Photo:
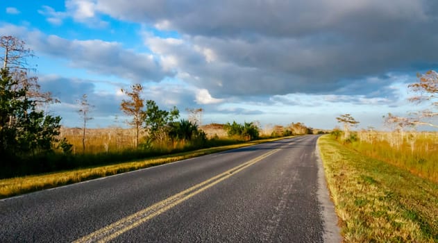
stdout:
[[438,185],[320,137],[345,242],[438,242]]

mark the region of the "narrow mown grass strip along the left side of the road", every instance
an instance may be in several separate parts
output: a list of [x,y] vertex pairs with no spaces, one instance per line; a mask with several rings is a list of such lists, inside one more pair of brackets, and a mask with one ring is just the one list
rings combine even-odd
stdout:
[[203,156],[210,153],[217,153],[219,151],[226,151],[229,149],[237,149],[243,146],[251,146],[254,144],[260,144],[262,142],[271,142],[279,139],[281,138],[255,140],[255,141],[244,142],[240,144],[217,146],[210,149],[199,149],[196,151],[176,153],[169,156],[148,158],[146,160],[122,162],[114,165],[101,165],[101,166],[88,167],[85,169],[72,169],[69,171],[60,171],[60,172],[54,172],[49,174],[2,179],[0,180],[0,198],[6,198],[9,196],[15,196],[28,192],[35,192],[37,190],[58,187],[61,185],[78,183],[93,178],[110,176],[114,174],[123,173],[126,171],[133,171],[135,169],[142,169],[155,165],[162,165],[169,162],[175,162],[187,158],[194,158],[196,156]]

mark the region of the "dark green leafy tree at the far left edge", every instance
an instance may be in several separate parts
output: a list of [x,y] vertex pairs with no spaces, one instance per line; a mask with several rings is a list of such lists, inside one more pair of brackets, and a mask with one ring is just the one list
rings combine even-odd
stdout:
[[61,118],[37,110],[35,101],[26,97],[27,91],[8,69],[1,69],[0,154],[9,165],[28,156],[51,153],[59,135]]

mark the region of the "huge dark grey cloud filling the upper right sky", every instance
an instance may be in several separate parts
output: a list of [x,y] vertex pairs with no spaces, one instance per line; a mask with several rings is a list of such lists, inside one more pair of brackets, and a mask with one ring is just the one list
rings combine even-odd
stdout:
[[[369,76],[438,62],[438,4],[426,1],[95,1],[117,19],[176,30],[183,43],[146,40],[162,60],[214,96],[342,92]],[[351,87],[351,88],[347,88]]]

